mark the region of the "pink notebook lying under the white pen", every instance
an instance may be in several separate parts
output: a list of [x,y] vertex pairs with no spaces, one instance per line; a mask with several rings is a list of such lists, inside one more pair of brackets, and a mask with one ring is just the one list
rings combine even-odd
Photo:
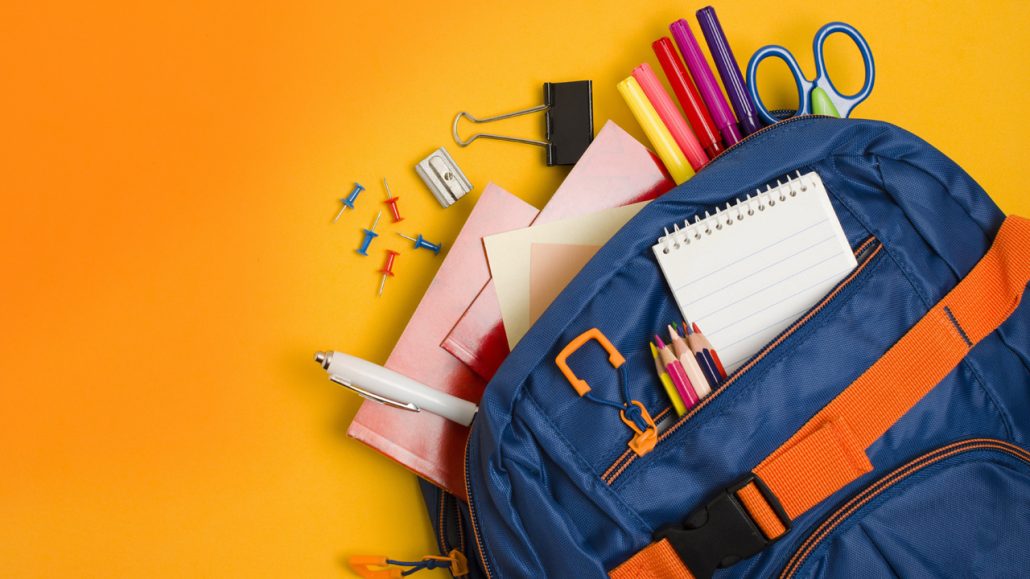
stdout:
[[[479,402],[486,381],[439,344],[489,280],[483,236],[527,227],[536,216],[536,207],[497,185],[486,185],[386,360],[386,368]],[[434,484],[465,497],[462,459],[468,428],[428,412],[365,402],[347,434]]]

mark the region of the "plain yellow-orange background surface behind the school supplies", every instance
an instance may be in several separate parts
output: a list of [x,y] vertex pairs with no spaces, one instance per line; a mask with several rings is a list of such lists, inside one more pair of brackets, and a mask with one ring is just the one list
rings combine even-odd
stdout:
[[[441,261],[405,250],[376,299],[381,250],[406,248],[393,232],[449,243],[488,180],[541,205],[566,173],[535,147],[456,147],[458,110],[591,78],[596,128],[643,138],[614,86],[701,6],[647,5],[7,6],[0,576],[340,577],[348,554],[432,552],[413,477],[346,439],[358,399],[311,354],[385,360]],[[815,31],[854,24],[878,67],[856,115],[923,136],[1030,214],[1030,4],[717,8],[742,63],[778,42],[810,74]],[[857,88],[853,49],[831,44],[831,71]],[[789,104],[775,68],[767,100]],[[447,210],[412,170],[441,145],[477,185]],[[383,176],[407,220],[384,218],[360,258]],[[357,210],[330,225],[355,180]]]

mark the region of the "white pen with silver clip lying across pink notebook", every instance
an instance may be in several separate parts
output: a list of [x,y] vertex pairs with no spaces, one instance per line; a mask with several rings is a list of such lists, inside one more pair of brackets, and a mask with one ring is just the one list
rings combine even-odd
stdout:
[[468,427],[479,407],[434,389],[392,370],[338,351],[316,352],[315,362],[329,379],[358,396],[412,412],[432,412]]

